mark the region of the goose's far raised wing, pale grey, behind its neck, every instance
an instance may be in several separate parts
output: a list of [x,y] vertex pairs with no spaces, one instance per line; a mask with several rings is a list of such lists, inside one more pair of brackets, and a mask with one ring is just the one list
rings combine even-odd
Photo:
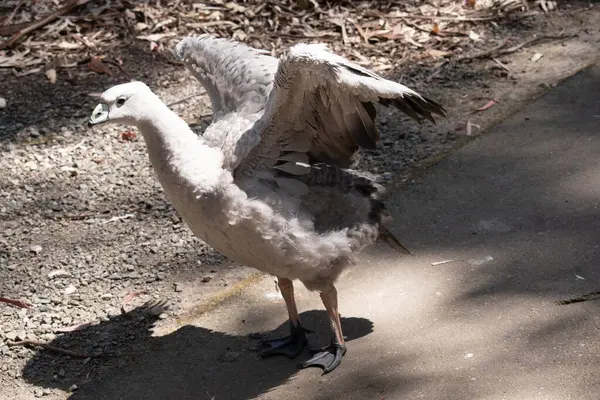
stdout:
[[175,54],[206,89],[213,120],[265,107],[278,65],[266,51],[229,39],[190,36],[177,44]]

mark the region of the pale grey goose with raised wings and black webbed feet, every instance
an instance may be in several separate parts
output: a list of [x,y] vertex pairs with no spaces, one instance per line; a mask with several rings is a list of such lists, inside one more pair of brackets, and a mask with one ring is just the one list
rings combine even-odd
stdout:
[[382,179],[357,169],[375,149],[375,104],[419,123],[437,102],[334,54],[299,43],[279,58],[228,39],[186,37],[176,56],[206,89],[213,121],[195,134],[142,82],[113,86],[89,118],[132,125],[166,196],[191,231],[231,260],[277,277],[290,334],[262,340],[263,357],[308,345],[293,281],[318,292],[332,338],[300,368],[329,373],[346,354],[335,283],[378,240],[410,254],[387,228]]

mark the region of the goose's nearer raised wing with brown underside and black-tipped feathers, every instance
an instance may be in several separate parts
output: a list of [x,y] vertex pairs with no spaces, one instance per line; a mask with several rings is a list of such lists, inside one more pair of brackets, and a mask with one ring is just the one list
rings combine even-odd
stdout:
[[419,122],[435,123],[433,114],[445,115],[435,101],[323,44],[293,46],[281,57],[264,115],[252,128],[260,141],[236,173],[271,170],[299,177],[315,163],[351,167],[359,147],[373,149],[379,141],[374,103],[394,106]]

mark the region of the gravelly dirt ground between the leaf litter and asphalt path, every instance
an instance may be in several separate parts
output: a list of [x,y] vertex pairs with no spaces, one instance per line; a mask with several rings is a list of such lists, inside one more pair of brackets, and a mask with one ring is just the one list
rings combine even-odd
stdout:
[[[379,73],[438,100],[448,118],[419,127],[382,110],[381,149],[365,153],[362,167],[386,173],[391,190],[400,189],[444,153],[592,63],[599,22],[598,7],[573,1],[549,13],[473,22],[480,40],[461,42],[460,52],[453,48],[448,57],[423,45],[407,45],[404,61],[375,57],[372,68],[383,65]],[[334,48],[355,60],[373,46],[346,47],[342,39]],[[152,351],[154,330],[184,324],[252,284],[254,270],[228,262],[191,235],[154,179],[135,132],[85,127],[94,94],[128,79],[148,83],[167,104],[179,102],[172,108],[198,132],[210,122],[208,99],[198,95],[194,78],[151,52],[147,41],[123,40],[111,55],[123,70],[98,74],[82,64],[57,69],[55,83],[43,71],[15,76],[15,69],[0,69],[6,101],[0,108],[0,296],[33,305],[0,304],[0,398],[64,398],[123,360]],[[124,297],[142,291],[126,306],[135,310],[121,316]],[[136,308],[163,300],[168,309]],[[103,330],[100,323],[109,320],[118,323]],[[97,325],[59,332],[86,322]],[[9,346],[25,339],[81,357]]]

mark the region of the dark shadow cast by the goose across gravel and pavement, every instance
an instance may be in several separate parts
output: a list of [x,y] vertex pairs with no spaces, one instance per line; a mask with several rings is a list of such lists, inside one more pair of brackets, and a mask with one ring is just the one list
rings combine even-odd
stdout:
[[[154,320],[134,310],[83,331],[62,334],[50,345],[85,354],[104,352],[110,357],[83,360],[40,350],[23,369],[23,378],[38,387],[69,390],[70,399],[251,399],[290,379],[297,364],[286,357],[261,359],[252,335],[230,335],[185,325],[165,336],[151,336]],[[329,340],[325,311],[301,314],[305,326],[315,330],[311,347]],[[368,335],[373,323],[342,317],[348,341]],[[285,334],[287,322],[272,334]],[[271,336],[271,334],[269,334]]]

